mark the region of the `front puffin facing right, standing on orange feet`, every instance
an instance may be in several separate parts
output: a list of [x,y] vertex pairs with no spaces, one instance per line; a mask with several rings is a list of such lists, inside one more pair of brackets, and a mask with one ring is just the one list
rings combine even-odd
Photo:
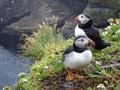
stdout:
[[67,81],[81,80],[79,74],[81,68],[87,67],[92,60],[92,52],[89,47],[93,44],[87,36],[81,35],[75,38],[73,45],[69,46],[63,53],[63,64],[67,69]]

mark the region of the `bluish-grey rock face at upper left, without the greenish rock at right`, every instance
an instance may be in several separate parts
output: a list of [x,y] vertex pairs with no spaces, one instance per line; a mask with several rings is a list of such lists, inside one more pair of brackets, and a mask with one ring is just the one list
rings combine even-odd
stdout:
[[16,48],[21,34],[30,35],[46,17],[69,20],[78,11],[81,13],[86,3],[87,0],[1,0],[0,44]]

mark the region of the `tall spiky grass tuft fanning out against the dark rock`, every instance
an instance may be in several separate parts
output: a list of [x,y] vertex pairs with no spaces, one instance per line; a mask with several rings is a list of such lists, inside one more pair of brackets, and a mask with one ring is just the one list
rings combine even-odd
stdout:
[[64,40],[61,34],[57,35],[56,38],[53,35],[54,27],[45,22],[39,25],[37,32],[26,38],[23,54],[33,57],[34,60],[41,60],[44,56],[51,57],[64,50],[69,42]]

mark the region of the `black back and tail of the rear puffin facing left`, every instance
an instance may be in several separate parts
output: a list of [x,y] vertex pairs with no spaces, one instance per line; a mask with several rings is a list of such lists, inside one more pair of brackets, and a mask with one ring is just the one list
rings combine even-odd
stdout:
[[104,40],[102,40],[98,29],[93,26],[92,20],[88,21],[84,25],[79,24],[78,26],[79,28],[82,28],[86,35],[95,42],[96,46],[94,48],[96,50],[101,50],[107,46],[110,46],[110,43],[106,43]]

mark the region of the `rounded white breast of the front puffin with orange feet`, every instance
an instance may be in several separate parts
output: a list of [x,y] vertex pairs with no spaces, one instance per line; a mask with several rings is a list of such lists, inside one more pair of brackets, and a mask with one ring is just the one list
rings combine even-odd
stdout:
[[90,64],[92,60],[92,53],[90,50],[85,50],[82,53],[73,51],[69,54],[66,54],[64,59],[65,67],[77,70]]

